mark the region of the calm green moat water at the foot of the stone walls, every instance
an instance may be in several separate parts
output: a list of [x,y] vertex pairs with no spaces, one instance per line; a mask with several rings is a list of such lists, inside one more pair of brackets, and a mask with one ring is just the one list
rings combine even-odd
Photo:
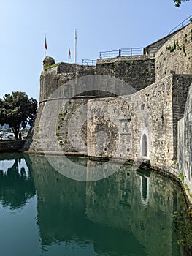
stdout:
[[44,156],[0,154],[0,254],[191,255],[180,187],[157,173],[119,167],[83,182],[61,175]]

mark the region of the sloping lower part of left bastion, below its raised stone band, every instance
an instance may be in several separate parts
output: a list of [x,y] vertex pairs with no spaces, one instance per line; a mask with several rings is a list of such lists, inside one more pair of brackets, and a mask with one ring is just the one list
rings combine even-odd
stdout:
[[80,127],[78,133],[72,132],[72,129],[77,129],[78,122],[84,116],[82,106],[86,106],[88,99],[90,97],[66,97],[42,102],[32,130],[32,142],[26,149],[29,151],[79,151],[85,153],[87,151],[86,125],[82,124],[83,127]]

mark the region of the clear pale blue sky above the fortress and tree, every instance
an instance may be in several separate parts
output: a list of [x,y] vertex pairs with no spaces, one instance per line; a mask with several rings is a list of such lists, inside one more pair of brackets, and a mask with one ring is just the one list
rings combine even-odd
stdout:
[[47,56],[77,63],[98,59],[99,51],[145,47],[192,14],[192,1],[172,0],[0,0],[0,97],[25,91],[39,101],[39,75]]

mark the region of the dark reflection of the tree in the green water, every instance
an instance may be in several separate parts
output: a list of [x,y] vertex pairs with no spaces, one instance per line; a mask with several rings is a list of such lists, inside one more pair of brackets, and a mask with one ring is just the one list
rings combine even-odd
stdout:
[[15,159],[11,168],[4,174],[0,170],[0,200],[2,205],[10,208],[20,208],[26,200],[35,195],[34,181],[24,167],[18,168],[18,159]]

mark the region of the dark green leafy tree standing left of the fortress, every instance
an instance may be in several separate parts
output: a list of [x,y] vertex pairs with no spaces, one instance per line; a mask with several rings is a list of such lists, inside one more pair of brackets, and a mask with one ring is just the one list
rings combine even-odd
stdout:
[[37,100],[29,99],[25,92],[13,91],[0,99],[0,124],[9,124],[18,140],[20,126],[32,124],[37,113]]

